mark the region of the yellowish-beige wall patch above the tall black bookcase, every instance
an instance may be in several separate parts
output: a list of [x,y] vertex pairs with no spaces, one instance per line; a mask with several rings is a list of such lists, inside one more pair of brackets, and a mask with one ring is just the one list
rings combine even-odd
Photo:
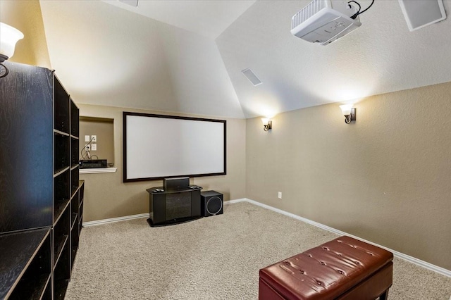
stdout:
[[17,28],[25,36],[16,44],[10,61],[51,68],[38,0],[1,0],[0,20]]

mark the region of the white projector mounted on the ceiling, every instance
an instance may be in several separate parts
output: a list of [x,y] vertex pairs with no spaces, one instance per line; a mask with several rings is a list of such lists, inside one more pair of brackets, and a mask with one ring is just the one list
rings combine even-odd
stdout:
[[327,45],[362,25],[358,15],[359,10],[348,1],[314,0],[293,15],[291,33],[308,42]]

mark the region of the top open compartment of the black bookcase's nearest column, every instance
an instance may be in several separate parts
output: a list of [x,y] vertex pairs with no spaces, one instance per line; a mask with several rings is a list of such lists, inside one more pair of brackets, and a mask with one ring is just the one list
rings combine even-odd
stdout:
[[61,132],[70,132],[69,95],[54,76],[54,128]]

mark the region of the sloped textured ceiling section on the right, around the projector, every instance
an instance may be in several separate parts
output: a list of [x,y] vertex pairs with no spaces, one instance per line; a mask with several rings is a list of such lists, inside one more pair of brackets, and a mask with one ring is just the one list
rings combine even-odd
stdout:
[[[409,32],[398,1],[376,0],[361,27],[320,46],[290,34],[309,2],[257,1],[216,39],[247,117],[451,81],[449,18]],[[250,85],[245,68],[263,84]]]

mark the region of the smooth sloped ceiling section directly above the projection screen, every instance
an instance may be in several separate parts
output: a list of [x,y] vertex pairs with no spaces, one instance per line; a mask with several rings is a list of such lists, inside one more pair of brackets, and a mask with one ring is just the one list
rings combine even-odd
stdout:
[[214,39],[103,1],[40,1],[76,103],[244,118]]

